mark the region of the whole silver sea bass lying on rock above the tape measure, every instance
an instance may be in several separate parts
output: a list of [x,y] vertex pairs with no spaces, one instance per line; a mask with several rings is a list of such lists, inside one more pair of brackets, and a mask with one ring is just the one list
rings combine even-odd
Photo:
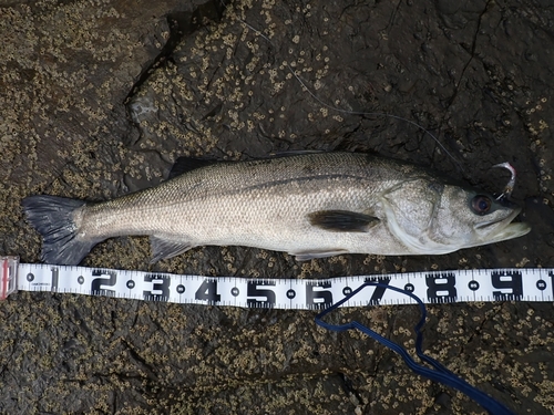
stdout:
[[[198,166],[198,164],[202,164]],[[402,162],[311,153],[250,162],[189,159],[183,174],[103,203],[22,201],[42,260],[78,264],[100,241],[148,235],[153,261],[237,245],[298,260],[342,253],[441,255],[523,236],[520,208]]]

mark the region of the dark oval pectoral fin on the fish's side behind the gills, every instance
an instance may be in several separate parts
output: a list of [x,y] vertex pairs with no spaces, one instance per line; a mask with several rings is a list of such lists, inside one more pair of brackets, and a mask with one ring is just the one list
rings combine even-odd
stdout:
[[318,210],[308,215],[311,225],[334,232],[367,232],[379,224],[375,216],[349,210]]

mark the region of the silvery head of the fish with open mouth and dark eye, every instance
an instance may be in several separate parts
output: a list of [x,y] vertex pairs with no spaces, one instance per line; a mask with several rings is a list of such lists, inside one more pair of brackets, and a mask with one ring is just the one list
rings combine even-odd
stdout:
[[521,211],[516,204],[463,186],[416,179],[383,200],[390,231],[413,253],[448,253],[531,230],[527,224],[512,224]]

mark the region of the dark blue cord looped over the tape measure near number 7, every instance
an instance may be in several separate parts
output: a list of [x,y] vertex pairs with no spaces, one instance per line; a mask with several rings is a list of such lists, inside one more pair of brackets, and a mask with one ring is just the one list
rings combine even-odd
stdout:
[[[358,292],[360,292],[362,289],[366,287],[379,287],[383,289],[389,289],[393,290],[397,292],[400,292],[404,295],[408,295],[416,300],[420,307],[421,310],[421,319],[418,324],[413,328],[416,332],[416,353],[418,354],[419,359],[421,359],[423,362],[427,362],[434,369],[429,369],[423,365],[420,365],[416,363],[416,361],[408,354],[408,352],[399,344],[383,338],[382,335],[376,333],[373,330],[367,328],[366,325],[359,323],[358,321],[351,321],[347,324],[329,324],[322,321],[321,319],[329,314],[331,311],[350,300],[353,295],[356,295]],[[447,367],[444,367],[442,364],[440,364],[438,361],[424,354],[421,350],[421,343],[423,341],[423,336],[420,332],[421,328],[425,323],[425,318],[427,318],[427,309],[423,302],[413,293],[402,290],[397,287],[391,287],[388,284],[383,284],[380,282],[366,282],[356,290],[353,290],[350,294],[345,297],[342,300],[336,302],[331,307],[327,308],[326,310],[321,311],[319,314],[316,315],[316,323],[319,324],[320,326],[337,331],[337,332],[342,332],[347,331],[350,329],[358,329],[359,331],[366,333],[370,338],[373,338],[378,342],[384,344],[387,347],[392,349],[394,352],[400,354],[400,356],[404,360],[406,364],[417,374],[421,376],[429,377],[432,381],[443,383],[450,387],[453,387],[469,397],[471,397],[473,401],[479,403],[481,406],[483,406],[491,415],[515,415],[512,411],[510,411],[507,407],[502,405],[500,402],[495,401],[484,392],[478,390],[476,387],[470,385],[468,382],[458,377],[453,372],[449,371]]]

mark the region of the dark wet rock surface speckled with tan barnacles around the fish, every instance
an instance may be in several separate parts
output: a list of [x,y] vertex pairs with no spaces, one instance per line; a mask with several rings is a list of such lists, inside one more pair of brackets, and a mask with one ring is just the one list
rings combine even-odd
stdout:
[[[533,231],[441,257],[306,263],[207,247],[151,266],[145,238],[120,238],[84,264],[276,278],[554,267],[551,6],[222,4],[0,2],[2,253],[39,259],[40,237],[20,209],[30,194],[103,200],[160,183],[182,155],[340,149],[491,191],[506,177],[490,167],[507,160]],[[432,356],[517,413],[551,414],[552,303],[429,309]],[[341,313],[413,347],[412,307]],[[0,412],[483,413],[362,334],[317,328],[314,315],[20,292],[0,303]]]

